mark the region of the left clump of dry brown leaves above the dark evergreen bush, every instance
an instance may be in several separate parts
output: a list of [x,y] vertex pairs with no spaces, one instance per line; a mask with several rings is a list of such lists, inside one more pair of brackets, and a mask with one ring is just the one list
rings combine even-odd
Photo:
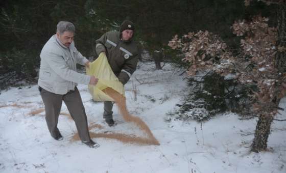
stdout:
[[231,53],[227,50],[227,45],[220,37],[213,35],[208,31],[198,33],[188,33],[181,39],[176,35],[168,44],[172,49],[181,50],[185,57],[182,61],[189,62],[188,75],[194,76],[198,70],[213,69],[223,72],[223,67],[229,65],[228,61],[224,63],[218,60],[229,60]]

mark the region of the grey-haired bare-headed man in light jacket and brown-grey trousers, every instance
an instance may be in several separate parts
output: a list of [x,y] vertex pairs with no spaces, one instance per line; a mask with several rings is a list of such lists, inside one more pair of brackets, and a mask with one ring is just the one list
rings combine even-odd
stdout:
[[64,101],[82,142],[88,147],[97,148],[98,143],[89,136],[87,117],[77,83],[96,85],[98,78],[77,72],[77,63],[89,67],[89,61],[75,47],[75,31],[73,23],[60,21],[57,33],[42,48],[39,91],[45,106],[46,124],[53,138],[63,139],[57,125]]

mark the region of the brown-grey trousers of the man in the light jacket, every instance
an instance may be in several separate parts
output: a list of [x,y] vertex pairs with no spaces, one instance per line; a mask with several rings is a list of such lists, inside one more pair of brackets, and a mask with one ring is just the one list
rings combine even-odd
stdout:
[[58,136],[60,133],[57,125],[62,101],[64,101],[71,118],[73,118],[76,123],[80,139],[82,141],[90,140],[87,117],[77,87],[75,88],[75,91],[69,91],[65,95],[54,94],[40,88],[40,94],[45,106],[47,128],[53,137]]

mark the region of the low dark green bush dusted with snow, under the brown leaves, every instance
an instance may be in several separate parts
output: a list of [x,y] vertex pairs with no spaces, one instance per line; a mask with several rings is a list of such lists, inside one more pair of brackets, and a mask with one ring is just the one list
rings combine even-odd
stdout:
[[193,113],[198,108],[204,108],[205,114],[201,115],[203,120],[225,111],[236,112],[243,116],[253,114],[250,110],[249,94],[257,90],[255,86],[240,85],[235,79],[226,79],[216,73],[208,73],[200,80],[188,78],[188,85],[192,90],[180,106],[180,113]]

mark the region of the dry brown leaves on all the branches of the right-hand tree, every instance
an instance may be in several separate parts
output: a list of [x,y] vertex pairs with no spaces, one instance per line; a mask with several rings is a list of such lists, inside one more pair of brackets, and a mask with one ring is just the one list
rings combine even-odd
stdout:
[[256,85],[258,91],[253,91],[251,96],[253,112],[274,115],[277,112],[272,102],[278,81],[274,62],[277,28],[269,27],[267,21],[268,18],[255,16],[252,21],[234,22],[233,34],[242,37],[241,52],[236,57],[220,37],[208,31],[188,33],[180,39],[176,35],[169,46],[184,53],[182,61],[190,63],[187,70],[190,76],[208,70],[223,76],[234,74],[241,84]]

